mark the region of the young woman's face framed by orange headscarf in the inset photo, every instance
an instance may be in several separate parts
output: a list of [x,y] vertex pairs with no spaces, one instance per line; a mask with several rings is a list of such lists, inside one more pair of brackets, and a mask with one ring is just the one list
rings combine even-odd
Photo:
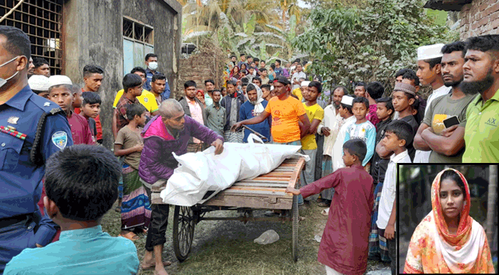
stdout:
[[463,210],[465,194],[456,181],[446,178],[440,183],[440,206],[445,218],[458,218]]

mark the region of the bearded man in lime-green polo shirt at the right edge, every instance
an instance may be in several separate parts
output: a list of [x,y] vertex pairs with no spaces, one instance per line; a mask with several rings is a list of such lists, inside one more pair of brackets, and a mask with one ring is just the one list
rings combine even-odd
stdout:
[[466,50],[461,89],[478,95],[466,111],[463,162],[499,162],[499,35],[471,37]]

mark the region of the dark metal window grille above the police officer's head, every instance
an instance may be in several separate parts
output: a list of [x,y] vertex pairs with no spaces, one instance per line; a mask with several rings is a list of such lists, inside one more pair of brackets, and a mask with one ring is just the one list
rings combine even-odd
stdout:
[[[19,1],[0,0],[0,16]],[[50,74],[63,71],[63,0],[25,0],[0,25],[23,30],[30,37],[33,58],[45,58]]]

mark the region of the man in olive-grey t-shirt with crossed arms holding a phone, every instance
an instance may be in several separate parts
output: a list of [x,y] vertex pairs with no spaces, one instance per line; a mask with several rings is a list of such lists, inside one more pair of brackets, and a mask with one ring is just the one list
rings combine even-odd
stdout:
[[[459,85],[463,81],[465,63],[465,43],[457,41],[442,47],[440,62],[445,86],[452,87],[451,94],[440,96],[427,108],[425,118],[414,137],[414,147],[421,151],[431,151],[429,162],[460,163],[465,147],[466,108],[474,96],[465,94]],[[443,120],[455,115],[459,124],[452,135],[444,136]]]

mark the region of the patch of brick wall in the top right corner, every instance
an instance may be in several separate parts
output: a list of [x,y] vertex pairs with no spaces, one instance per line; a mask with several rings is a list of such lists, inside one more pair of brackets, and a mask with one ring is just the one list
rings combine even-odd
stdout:
[[499,1],[474,0],[459,12],[460,39],[481,34],[499,34]]

